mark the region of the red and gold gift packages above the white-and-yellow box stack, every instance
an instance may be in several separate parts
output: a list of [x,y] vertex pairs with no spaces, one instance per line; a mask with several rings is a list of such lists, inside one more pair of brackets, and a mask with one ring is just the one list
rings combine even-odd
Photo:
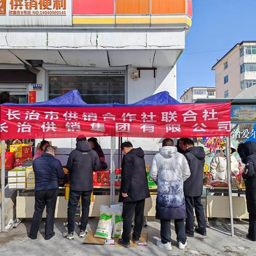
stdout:
[[23,165],[28,159],[33,159],[32,146],[27,144],[11,145],[10,151],[15,154],[15,167]]

